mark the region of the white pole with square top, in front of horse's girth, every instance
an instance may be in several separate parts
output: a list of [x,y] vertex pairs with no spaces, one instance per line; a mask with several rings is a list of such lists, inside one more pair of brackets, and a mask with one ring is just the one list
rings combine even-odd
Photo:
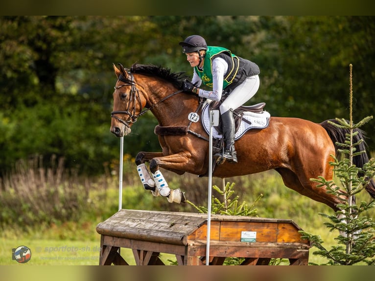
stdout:
[[211,197],[212,197],[212,127],[219,124],[219,111],[210,110],[210,141],[209,141],[209,198],[207,213],[207,242],[206,265],[210,264],[210,236],[211,236]]

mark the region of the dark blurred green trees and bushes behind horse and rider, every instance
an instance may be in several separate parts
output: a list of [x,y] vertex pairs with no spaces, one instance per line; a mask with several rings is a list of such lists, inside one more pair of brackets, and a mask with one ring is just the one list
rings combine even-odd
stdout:
[[[112,63],[191,68],[178,42],[200,34],[260,67],[271,116],[314,122],[348,118],[349,64],[354,119],[374,113],[375,17],[353,16],[1,16],[0,175],[33,155],[100,174],[118,158],[110,134]],[[146,114],[125,138],[126,153],[158,151]],[[374,150],[373,125],[363,129]]]

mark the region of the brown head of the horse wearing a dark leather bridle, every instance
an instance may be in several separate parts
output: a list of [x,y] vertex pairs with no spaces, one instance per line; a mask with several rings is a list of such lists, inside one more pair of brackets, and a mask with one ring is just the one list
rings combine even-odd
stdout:
[[127,72],[121,64],[118,66],[119,69],[113,65],[117,82],[113,92],[111,133],[122,137],[130,133],[130,127],[137,121],[145,102],[141,100],[133,74]]

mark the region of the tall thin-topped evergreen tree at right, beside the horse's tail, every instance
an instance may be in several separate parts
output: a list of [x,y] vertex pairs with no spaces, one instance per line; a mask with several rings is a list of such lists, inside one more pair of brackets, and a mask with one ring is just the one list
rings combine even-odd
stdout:
[[363,215],[365,211],[375,207],[375,200],[370,203],[362,201],[359,204],[353,200],[354,195],[361,192],[375,176],[375,160],[373,158],[363,168],[356,167],[352,162],[354,156],[365,153],[365,151],[356,151],[355,146],[363,140],[353,143],[353,136],[356,134],[353,131],[371,118],[372,116],[366,117],[356,124],[352,122],[352,65],[350,65],[350,122],[338,118],[336,118],[338,124],[331,122],[335,126],[350,131],[350,134],[346,135],[345,143],[337,143],[343,147],[338,152],[344,157],[339,161],[332,156],[334,161],[329,163],[334,166],[336,178],[339,179],[343,188],[340,189],[334,181],[327,181],[323,177],[311,179],[319,183],[318,187],[327,187],[327,192],[342,198],[342,203],[337,205],[340,211],[336,211],[334,214],[319,213],[329,219],[330,222],[324,223],[329,231],[339,231],[339,235],[335,238],[338,245],[332,246],[328,250],[323,246],[324,241],[319,235],[300,231],[302,238],[310,240],[312,245],[319,249],[313,254],[328,258],[327,264],[330,265],[353,265],[359,262],[368,265],[375,264],[375,223],[371,218]]

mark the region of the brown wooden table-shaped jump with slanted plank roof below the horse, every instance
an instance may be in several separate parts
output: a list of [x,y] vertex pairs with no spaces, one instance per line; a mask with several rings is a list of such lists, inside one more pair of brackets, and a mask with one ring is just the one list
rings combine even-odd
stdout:
[[[307,240],[290,219],[211,215],[210,264],[244,258],[241,265],[266,265],[287,258],[307,265]],[[206,263],[207,214],[122,209],[96,227],[100,265],[128,265],[119,248],[132,249],[137,265],[164,265],[160,253],[173,254],[179,265]]]

